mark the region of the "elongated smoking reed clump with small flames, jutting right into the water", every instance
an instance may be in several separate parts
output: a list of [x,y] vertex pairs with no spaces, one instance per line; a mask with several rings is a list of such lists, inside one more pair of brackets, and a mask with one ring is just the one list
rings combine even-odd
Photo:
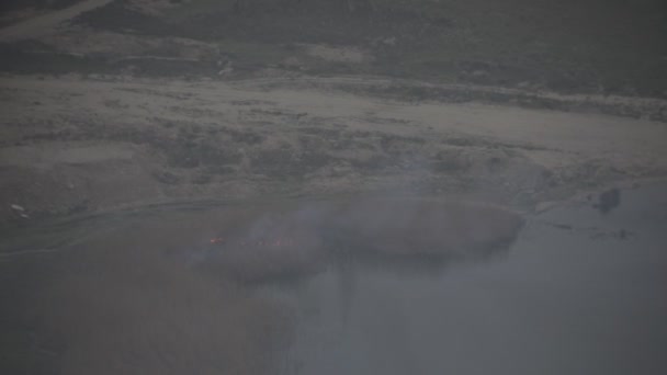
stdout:
[[515,212],[476,203],[327,202],[263,215],[214,237],[196,257],[204,270],[251,283],[307,276],[341,254],[421,258],[440,266],[507,250],[522,225]]

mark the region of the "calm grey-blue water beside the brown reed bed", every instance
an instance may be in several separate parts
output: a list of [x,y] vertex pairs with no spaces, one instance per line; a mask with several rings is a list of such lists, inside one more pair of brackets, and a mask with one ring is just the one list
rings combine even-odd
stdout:
[[414,271],[342,263],[281,293],[302,319],[281,372],[667,374],[665,184],[532,217],[504,257]]

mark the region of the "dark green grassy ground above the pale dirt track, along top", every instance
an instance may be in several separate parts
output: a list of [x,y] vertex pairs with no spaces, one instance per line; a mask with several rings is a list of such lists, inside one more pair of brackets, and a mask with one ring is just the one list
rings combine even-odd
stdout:
[[[242,3],[239,9],[233,1],[196,0],[160,19],[142,15],[135,20],[137,15],[127,13],[122,2],[114,2],[79,22],[216,41],[223,49],[230,41],[256,48],[310,43],[362,47],[375,57],[359,65],[306,67],[318,73],[523,84],[561,92],[667,94],[663,43],[667,7],[659,0]],[[289,50],[282,55],[289,56]],[[275,58],[265,64],[280,63],[281,57]]]

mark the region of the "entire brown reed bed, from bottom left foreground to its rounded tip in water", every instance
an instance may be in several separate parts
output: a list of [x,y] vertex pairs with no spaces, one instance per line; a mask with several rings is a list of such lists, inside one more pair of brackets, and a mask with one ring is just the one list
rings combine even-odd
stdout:
[[[426,200],[260,208],[159,215],[63,253],[30,306],[63,373],[263,374],[294,321],[248,285],[317,273],[343,252],[441,268],[509,245],[522,225]],[[182,249],[194,263],[170,255]]]

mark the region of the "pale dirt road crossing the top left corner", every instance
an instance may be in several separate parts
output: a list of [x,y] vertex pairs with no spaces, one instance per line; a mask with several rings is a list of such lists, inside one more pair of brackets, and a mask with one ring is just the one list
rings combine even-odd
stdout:
[[77,15],[103,7],[113,0],[87,0],[72,7],[30,19],[27,21],[0,29],[0,42],[16,42],[36,38],[53,33],[59,24]]

